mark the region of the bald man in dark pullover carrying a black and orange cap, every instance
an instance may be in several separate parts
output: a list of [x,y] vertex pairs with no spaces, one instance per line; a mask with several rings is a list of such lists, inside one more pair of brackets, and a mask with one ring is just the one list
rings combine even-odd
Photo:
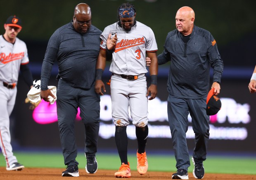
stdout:
[[188,114],[192,117],[195,148],[192,155],[195,178],[204,177],[203,161],[209,141],[209,116],[206,97],[210,67],[213,68],[215,95],[220,93],[223,61],[211,33],[194,25],[194,11],[181,7],[176,14],[176,30],[168,33],[164,52],[157,56],[159,65],[171,61],[168,76],[168,121],[171,129],[177,172],[172,179],[188,179],[190,166],[186,132]]

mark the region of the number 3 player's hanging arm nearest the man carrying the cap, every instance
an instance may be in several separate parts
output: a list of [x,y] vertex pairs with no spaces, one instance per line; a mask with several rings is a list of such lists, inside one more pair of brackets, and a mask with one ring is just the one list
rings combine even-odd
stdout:
[[151,77],[151,85],[147,89],[147,95],[149,93],[151,96],[149,97],[149,100],[152,100],[157,95],[157,73],[158,73],[158,62],[157,62],[157,56],[156,52],[147,52],[147,56],[151,59],[151,64],[149,66],[149,73]]

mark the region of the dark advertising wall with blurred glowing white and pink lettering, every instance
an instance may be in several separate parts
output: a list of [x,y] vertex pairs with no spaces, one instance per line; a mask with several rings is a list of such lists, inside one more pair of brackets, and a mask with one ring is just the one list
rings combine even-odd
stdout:
[[[39,78],[39,77],[38,77]],[[104,79],[107,82],[108,79]],[[149,136],[147,149],[172,150],[171,132],[167,118],[167,79],[159,78],[158,96],[149,101]],[[12,136],[21,147],[59,148],[59,130],[57,125],[56,104],[41,102],[34,110],[28,110],[24,103],[28,89],[20,79],[17,102],[12,113]],[[220,100],[222,108],[217,115],[210,116],[209,151],[256,152],[256,107],[255,94],[248,90],[248,80],[223,79],[221,82]],[[54,78],[49,85],[56,85]],[[116,148],[114,141],[115,126],[111,118],[111,99],[109,86],[101,96],[99,148]],[[121,106],[121,104],[120,104]],[[190,150],[194,148],[194,132],[191,117],[188,116],[189,128],[187,143]],[[76,116],[76,142],[78,148],[84,148],[84,127],[78,115]],[[135,126],[127,128],[129,138],[128,148],[137,148]]]

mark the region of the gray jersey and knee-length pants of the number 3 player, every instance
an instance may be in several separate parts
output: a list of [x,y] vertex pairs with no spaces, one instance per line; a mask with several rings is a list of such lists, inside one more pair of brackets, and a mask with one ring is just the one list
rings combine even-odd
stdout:
[[[106,50],[106,41],[111,33],[117,35],[117,42],[110,71],[112,117],[116,126],[129,125],[129,112],[133,124],[145,127],[148,122],[146,52],[157,51],[156,39],[151,28],[137,21],[130,31],[126,32],[116,23],[107,26],[100,38],[100,48]],[[123,75],[137,76],[134,81],[123,78]]]

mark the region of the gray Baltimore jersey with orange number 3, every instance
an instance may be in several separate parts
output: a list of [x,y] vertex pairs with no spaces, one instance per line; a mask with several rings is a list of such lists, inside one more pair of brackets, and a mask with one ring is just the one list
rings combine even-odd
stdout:
[[117,35],[117,42],[112,53],[109,71],[116,74],[138,75],[147,73],[146,52],[157,51],[154,32],[148,26],[136,21],[130,31],[124,30],[117,23],[107,26],[100,38],[100,48],[106,50],[107,38]]

